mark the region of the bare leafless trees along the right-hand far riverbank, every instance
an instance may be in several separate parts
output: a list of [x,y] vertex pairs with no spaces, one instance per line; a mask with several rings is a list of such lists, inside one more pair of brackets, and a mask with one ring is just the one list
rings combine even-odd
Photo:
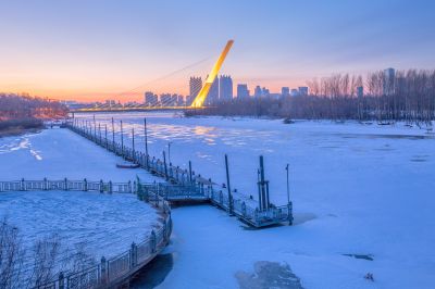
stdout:
[[[357,120],[380,123],[435,120],[435,71],[333,75],[308,81],[308,96],[235,98],[186,115],[247,115],[303,120]],[[361,87],[364,93],[361,93]]]

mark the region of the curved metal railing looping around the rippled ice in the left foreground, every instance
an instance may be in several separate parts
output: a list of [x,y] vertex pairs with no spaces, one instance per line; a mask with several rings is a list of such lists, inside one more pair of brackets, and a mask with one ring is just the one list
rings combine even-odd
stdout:
[[148,264],[167,244],[172,233],[171,208],[159,193],[149,192],[150,198],[145,198],[142,188],[147,185],[140,181],[112,183],[83,180],[0,180],[0,192],[11,191],[47,191],[47,190],[74,190],[97,191],[101,193],[135,193],[138,199],[154,206],[163,219],[160,227],[140,243],[132,243],[129,250],[114,257],[101,257],[99,264],[76,273],[57,274],[57,279],[49,284],[38,286],[38,289],[78,289],[78,288],[105,288],[116,287],[134,275],[138,269]]

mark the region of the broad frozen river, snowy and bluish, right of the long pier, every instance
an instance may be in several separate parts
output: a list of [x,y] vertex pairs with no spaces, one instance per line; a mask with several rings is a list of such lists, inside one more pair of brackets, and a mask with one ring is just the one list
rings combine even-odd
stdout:
[[[265,158],[271,198],[286,203],[285,166],[296,226],[249,231],[212,208],[173,212],[167,249],[174,268],[162,288],[235,288],[239,271],[258,261],[284,262],[307,288],[431,288],[435,281],[435,139],[417,127],[330,122],[192,117],[172,113],[100,113],[96,123],[111,136],[111,117],[124,142],[144,150],[147,116],[149,151],[225,181],[229,158],[233,188],[257,196],[258,156]],[[92,123],[91,114],[76,114]],[[97,133],[98,134],[98,133]],[[119,138],[120,135],[116,134]],[[346,254],[370,255],[373,261]],[[213,268],[210,267],[213,260]]]

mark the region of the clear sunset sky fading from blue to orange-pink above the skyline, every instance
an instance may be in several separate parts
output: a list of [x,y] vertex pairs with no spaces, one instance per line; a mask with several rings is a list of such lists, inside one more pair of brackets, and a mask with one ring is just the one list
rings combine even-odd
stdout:
[[435,1],[0,0],[0,91],[79,101],[188,93],[228,39],[234,84],[435,68]]

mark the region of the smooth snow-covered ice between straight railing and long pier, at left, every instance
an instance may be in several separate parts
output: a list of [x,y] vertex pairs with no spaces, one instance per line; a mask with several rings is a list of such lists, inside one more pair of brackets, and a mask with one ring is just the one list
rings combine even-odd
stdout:
[[117,168],[122,158],[109,153],[69,129],[0,138],[0,179],[84,179],[144,181],[152,177],[144,169]]

